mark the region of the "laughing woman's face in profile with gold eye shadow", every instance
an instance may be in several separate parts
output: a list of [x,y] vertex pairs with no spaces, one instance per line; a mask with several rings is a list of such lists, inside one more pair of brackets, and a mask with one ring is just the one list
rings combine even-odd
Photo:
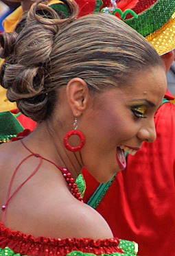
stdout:
[[86,138],[82,162],[97,181],[106,183],[124,170],[124,151],[135,154],[143,141],[156,139],[154,113],[166,88],[165,71],[155,67],[135,74],[128,86],[95,97],[78,128]]

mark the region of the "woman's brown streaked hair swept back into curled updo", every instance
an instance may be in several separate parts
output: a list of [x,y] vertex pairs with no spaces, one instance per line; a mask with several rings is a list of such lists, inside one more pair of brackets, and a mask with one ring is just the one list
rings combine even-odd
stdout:
[[76,19],[73,0],[62,1],[68,17],[40,2],[14,32],[0,36],[0,83],[8,100],[34,121],[49,118],[59,89],[72,78],[100,93],[129,86],[136,70],[161,65],[154,47],[117,17],[93,13]]

